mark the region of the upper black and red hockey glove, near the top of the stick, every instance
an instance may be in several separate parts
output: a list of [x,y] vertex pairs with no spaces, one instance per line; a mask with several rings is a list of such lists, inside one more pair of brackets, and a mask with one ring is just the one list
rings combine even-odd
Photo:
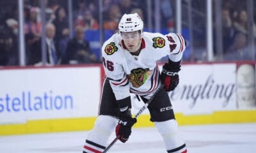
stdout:
[[169,62],[164,64],[160,78],[166,91],[173,91],[179,84],[179,71],[180,61],[173,62],[169,59]]

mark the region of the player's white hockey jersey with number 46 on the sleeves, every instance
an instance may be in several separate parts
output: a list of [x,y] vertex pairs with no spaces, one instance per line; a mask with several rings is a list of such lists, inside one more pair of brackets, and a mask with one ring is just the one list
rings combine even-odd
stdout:
[[141,96],[154,93],[161,84],[157,61],[166,55],[174,62],[182,59],[186,45],[180,34],[144,32],[142,36],[138,56],[127,50],[118,33],[102,46],[104,70],[117,100],[127,98],[130,93]]

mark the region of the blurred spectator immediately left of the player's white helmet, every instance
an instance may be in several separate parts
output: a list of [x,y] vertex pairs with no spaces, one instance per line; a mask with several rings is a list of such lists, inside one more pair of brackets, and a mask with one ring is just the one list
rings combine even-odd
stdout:
[[118,28],[118,22],[120,20],[120,8],[114,4],[109,8],[108,19],[104,22],[104,29],[115,32]]

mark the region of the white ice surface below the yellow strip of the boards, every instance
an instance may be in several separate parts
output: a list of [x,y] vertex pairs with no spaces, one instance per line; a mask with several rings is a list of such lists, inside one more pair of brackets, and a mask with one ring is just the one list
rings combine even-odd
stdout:
[[[256,123],[180,126],[189,153],[241,153],[256,150]],[[0,136],[0,152],[82,152],[88,131]],[[109,138],[109,143],[114,135]],[[164,143],[155,128],[135,128],[128,142],[116,142],[109,153],[161,153]]]

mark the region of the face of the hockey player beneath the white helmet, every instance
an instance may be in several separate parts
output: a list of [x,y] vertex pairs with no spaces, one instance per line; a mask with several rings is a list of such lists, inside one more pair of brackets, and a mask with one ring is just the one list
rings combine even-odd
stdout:
[[129,52],[137,52],[140,48],[141,34],[139,31],[122,33],[122,39]]

